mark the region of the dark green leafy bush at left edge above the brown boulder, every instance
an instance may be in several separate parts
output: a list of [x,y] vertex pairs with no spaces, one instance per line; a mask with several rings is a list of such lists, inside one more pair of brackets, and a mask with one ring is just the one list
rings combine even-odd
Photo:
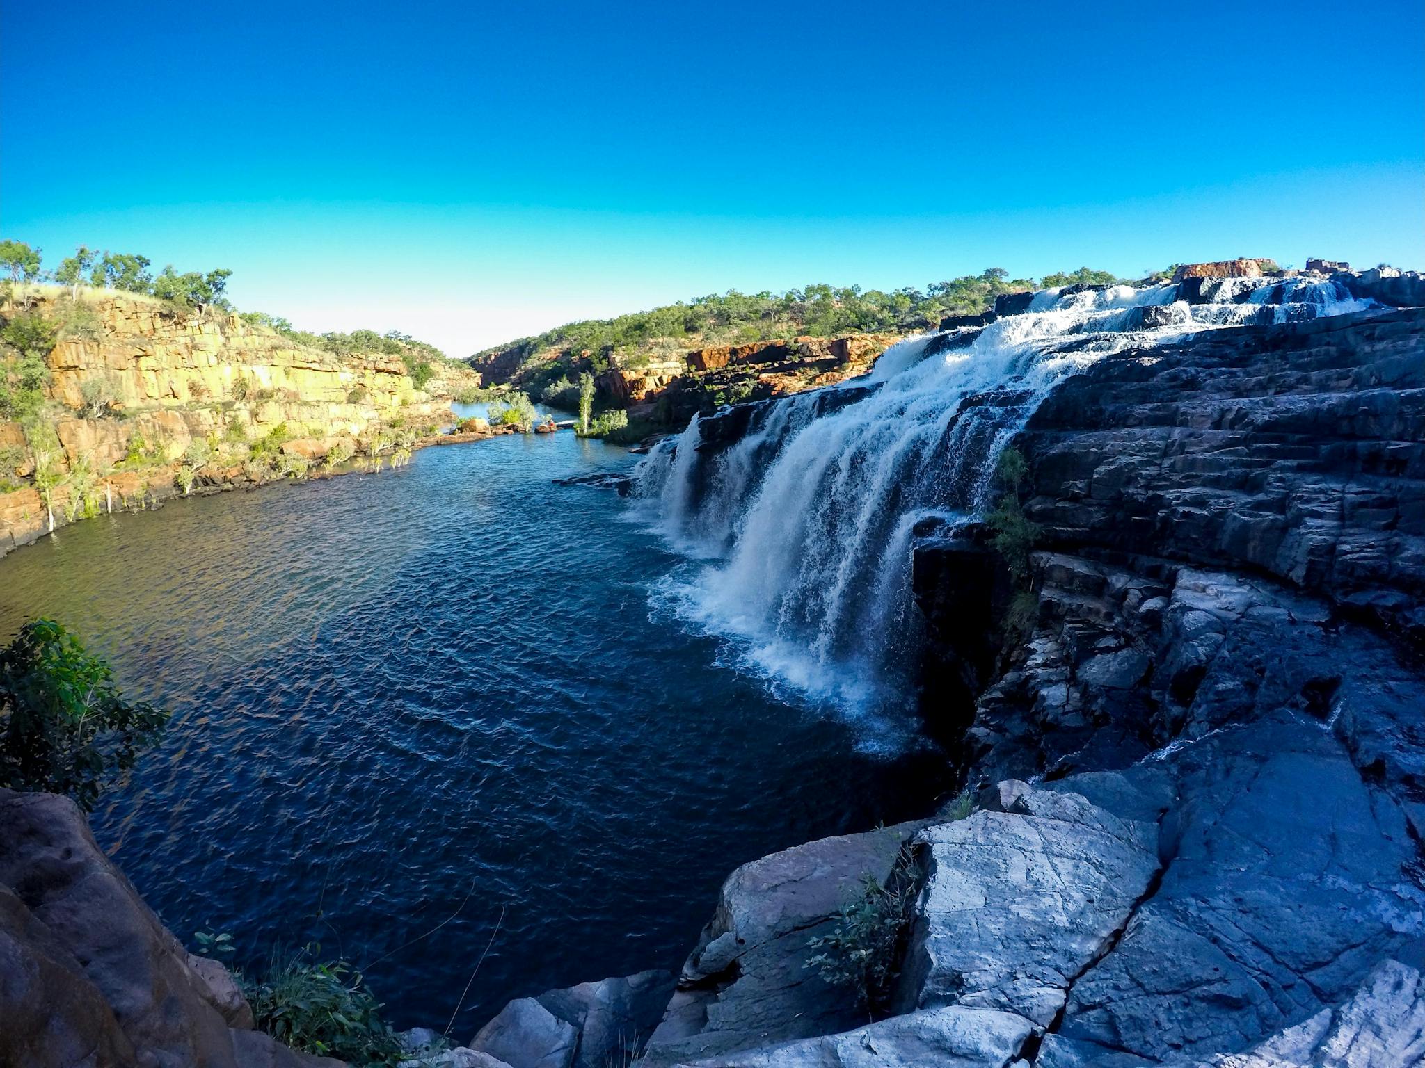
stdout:
[[0,786],[64,793],[91,812],[167,722],[125,701],[113,668],[53,619],[27,622],[0,649]]

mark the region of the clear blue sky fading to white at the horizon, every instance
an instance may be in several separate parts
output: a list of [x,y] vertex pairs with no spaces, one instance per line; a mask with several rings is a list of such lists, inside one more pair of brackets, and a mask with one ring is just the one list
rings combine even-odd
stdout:
[[34,4],[0,228],[465,355],[728,288],[1425,266],[1418,0]]

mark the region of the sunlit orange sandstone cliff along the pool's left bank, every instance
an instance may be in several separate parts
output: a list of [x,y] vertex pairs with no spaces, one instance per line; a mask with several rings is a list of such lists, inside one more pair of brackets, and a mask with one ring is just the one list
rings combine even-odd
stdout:
[[[455,389],[477,382],[436,365],[418,390],[400,356],[336,356],[235,315],[133,293],[84,290],[76,309],[66,290],[30,288],[0,308],[0,319],[21,313],[70,325],[46,356],[40,422],[53,454],[19,422],[0,422],[0,555],[95,511],[409,449],[450,422]],[[103,400],[90,403],[86,386]],[[48,491],[37,459],[53,466]]]

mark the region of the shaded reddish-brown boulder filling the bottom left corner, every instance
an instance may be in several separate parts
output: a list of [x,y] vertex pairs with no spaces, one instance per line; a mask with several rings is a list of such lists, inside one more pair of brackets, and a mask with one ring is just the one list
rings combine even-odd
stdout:
[[252,1012],[231,977],[195,960],[71,800],[0,790],[0,1064],[339,1064],[244,1030]]

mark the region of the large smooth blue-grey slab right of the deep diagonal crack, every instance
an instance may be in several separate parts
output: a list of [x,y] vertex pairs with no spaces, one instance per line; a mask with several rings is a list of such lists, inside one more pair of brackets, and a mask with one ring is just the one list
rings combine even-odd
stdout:
[[1181,795],[1166,874],[1059,1028],[1097,1051],[1084,1064],[1250,1049],[1348,1000],[1382,960],[1425,953],[1405,815],[1327,725],[1278,712],[1163,763]]

